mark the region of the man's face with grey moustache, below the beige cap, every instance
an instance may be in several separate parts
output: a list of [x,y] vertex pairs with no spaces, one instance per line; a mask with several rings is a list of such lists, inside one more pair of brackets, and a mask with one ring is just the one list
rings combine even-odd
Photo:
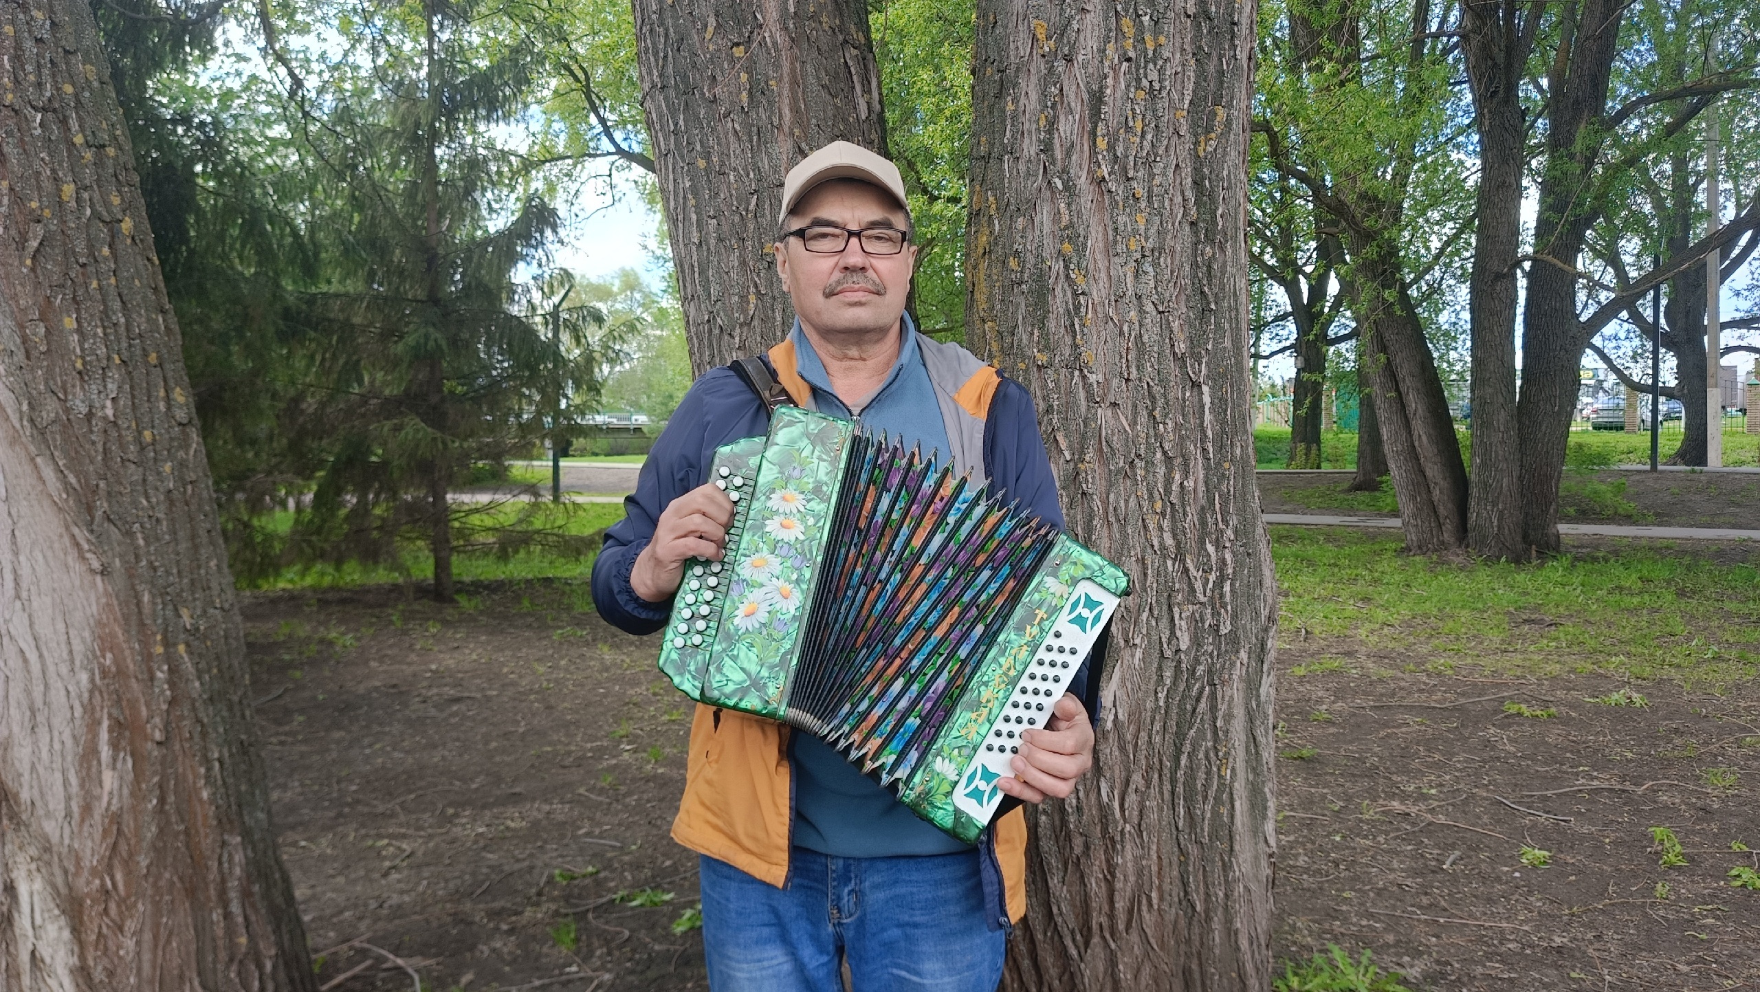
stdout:
[[[855,179],[813,186],[794,206],[785,227],[796,230],[815,223],[852,230],[910,227],[891,195]],[[794,311],[820,334],[861,334],[898,324],[915,262],[915,244],[905,244],[898,255],[869,255],[861,237],[850,237],[838,253],[808,252],[801,237],[776,243],[776,274]]]

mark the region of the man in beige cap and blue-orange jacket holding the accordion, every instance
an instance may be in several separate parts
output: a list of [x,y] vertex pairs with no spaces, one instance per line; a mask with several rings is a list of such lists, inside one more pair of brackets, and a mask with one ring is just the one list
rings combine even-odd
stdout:
[[[1058,526],[1063,514],[1026,390],[905,315],[917,246],[898,167],[832,142],[783,185],[776,274],[794,301],[769,350],[801,406],[936,449]],[[642,464],[628,517],[593,565],[600,614],[632,633],[665,624],[685,561],[720,559],[734,505],[708,478],[715,449],[764,434],[767,413],[730,368],[692,385]],[[1084,674],[1072,689],[1084,689]],[[1067,797],[1093,726],[1065,695],[1028,730],[1001,788]],[[716,992],[989,992],[1026,911],[1026,825],[1016,809],[975,846],[917,820],[825,742],[706,705],[690,733],[672,837],[702,855],[702,943]]]

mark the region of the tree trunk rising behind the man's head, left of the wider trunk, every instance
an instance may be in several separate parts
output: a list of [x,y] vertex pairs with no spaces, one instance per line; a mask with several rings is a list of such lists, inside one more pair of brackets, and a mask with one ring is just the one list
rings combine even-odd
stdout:
[[868,5],[635,0],[635,53],[700,375],[794,320],[771,260],[788,169],[838,139],[885,155]]

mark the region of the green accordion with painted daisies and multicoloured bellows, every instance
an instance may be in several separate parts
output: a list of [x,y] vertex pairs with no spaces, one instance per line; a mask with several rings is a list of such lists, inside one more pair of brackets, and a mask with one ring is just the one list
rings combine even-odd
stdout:
[[688,561],[660,649],[685,695],[825,739],[975,842],[1125,573],[984,485],[797,406],[716,450],[722,561]]

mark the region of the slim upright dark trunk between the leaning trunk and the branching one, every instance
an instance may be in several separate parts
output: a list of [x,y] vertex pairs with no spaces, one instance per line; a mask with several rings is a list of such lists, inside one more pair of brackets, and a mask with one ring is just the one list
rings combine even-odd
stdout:
[[1515,427],[1515,257],[1528,137],[1521,84],[1540,11],[1528,11],[1526,19],[1522,11],[1501,0],[1468,0],[1461,9],[1478,130],[1478,223],[1468,281],[1473,475],[1466,543],[1475,554],[1508,561],[1528,561]]

